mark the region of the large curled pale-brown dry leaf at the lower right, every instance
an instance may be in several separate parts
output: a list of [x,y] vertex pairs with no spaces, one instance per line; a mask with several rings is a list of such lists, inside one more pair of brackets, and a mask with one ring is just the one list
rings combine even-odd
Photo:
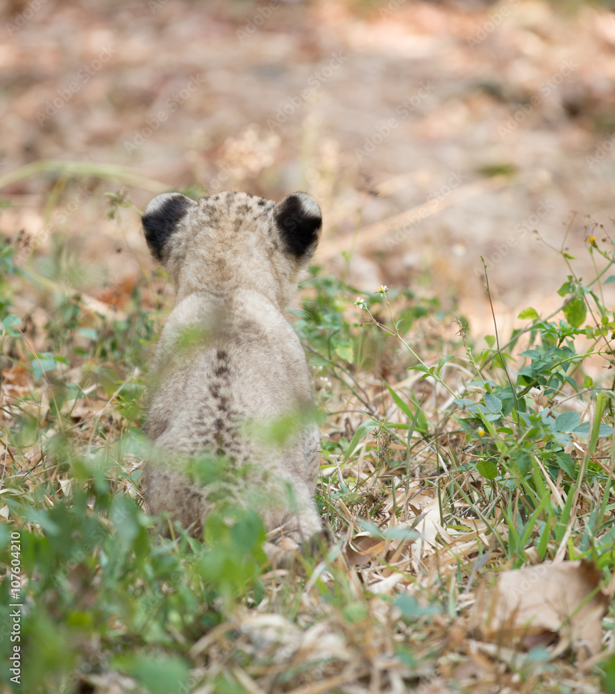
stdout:
[[480,586],[471,625],[486,641],[516,638],[529,649],[556,638],[557,652],[573,645],[580,655],[595,654],[608,604],[598,589],[600,578],[584,560],[504,571],[493,588]]

